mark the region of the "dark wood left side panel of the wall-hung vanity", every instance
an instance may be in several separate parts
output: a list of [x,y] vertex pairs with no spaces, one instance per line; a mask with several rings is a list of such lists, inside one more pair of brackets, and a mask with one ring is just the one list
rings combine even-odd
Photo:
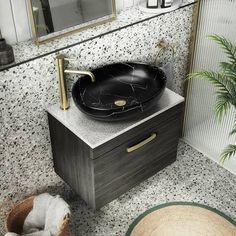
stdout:
[[95,208],[93,163],[89,146],[50,114],[48,121],[55,172]]

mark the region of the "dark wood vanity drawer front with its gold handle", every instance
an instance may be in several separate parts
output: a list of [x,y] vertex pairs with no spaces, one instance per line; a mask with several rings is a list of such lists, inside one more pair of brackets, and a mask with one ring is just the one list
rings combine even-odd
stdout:
[[120,145],[94,160],[98,207],[175,161],[182,108],[175,106],[122,134]]

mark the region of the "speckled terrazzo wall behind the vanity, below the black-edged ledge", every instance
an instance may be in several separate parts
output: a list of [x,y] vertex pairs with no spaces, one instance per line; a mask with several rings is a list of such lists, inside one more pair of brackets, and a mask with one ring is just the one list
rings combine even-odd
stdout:
[[[156,43],[165,38],[176,47],[173,90],[183,94],[192,8],[143,21],[61,53],[77,58],[80,69],[118,61],[152,63]],[[59,100],[54,59],[55,54],[50,54],[0,72],[0,204],[42,191],[71,193],[53,171],[44,110]],[[70,77],[69,87],[73,80]]]

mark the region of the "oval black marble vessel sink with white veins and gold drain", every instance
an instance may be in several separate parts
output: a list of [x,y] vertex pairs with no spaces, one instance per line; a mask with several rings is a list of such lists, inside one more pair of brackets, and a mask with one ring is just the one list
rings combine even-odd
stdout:
[[74,84],[76,106],[99,120],[126,120],[157,103],[165,86],[164,72],[142,63],[116,63],[92,71],[96,81],[83,76]]

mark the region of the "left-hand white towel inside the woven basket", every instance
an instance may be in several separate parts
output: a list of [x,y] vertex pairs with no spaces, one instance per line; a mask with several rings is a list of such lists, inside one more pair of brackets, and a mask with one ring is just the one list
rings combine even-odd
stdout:
[[40,194],[34,198],[33,209],[24,222],[23,234],[33,233],[44,229],[46,212],[53,199],[54,197],[48,193]]

